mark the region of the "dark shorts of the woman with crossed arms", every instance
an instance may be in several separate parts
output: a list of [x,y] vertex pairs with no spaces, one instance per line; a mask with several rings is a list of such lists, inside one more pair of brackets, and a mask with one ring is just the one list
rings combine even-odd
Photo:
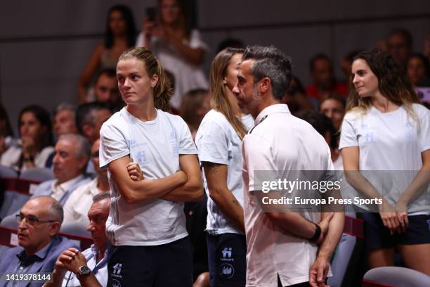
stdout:
[[193,251],[187,237],[153,246],[112,246],[107,286],[193,286]]

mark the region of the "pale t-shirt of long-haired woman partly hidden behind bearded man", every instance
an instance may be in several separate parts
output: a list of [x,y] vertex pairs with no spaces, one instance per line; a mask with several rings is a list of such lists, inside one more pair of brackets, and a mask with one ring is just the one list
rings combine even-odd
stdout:
[[[247,116],[245,116],[247,117]],[[252,117],[251,117],[252,119]],[[242,118],[242,122],[249,129]],[[227,187],[243,207],[242,140],[222,113],[210,110],[202,120],[195,136],[195,144],[201,162],[213,162],[228,166]],[[207,225],[209,234],[242,234],[223,216],[219,207],[209,197],[206,177],[203,173],[204,190],[207,192]]]

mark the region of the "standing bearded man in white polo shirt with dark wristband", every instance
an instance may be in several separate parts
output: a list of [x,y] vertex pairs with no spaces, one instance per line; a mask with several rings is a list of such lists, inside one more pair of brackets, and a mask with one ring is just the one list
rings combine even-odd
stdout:
[[247,47],[237,78],[239,106],[256,119],[242,145],[247,286],[325,286],[344,214],[264,212],[254,172],[278,171],[288,178],[294,171],[332,170],[330,148],[311,125],[280,104],[291,81],[284,53],[273,46]]

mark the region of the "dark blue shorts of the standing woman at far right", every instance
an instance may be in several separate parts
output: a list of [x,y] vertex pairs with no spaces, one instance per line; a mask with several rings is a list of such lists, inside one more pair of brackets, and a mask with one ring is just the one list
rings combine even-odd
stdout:
[[409,226],[403,234],[390,234],[379,213],[362,213],[364,219],[365,248],[374,250],[395,248],[396,245],[416,245],[430,243],[430,215],[408,216]]

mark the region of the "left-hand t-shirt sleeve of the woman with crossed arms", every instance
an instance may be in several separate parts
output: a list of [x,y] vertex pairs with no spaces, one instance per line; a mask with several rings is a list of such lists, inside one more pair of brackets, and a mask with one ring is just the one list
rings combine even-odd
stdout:
[[130,154],[129,143],[121,129],[104,123],[100,129],[100,168],[105,168],[113,160]]

